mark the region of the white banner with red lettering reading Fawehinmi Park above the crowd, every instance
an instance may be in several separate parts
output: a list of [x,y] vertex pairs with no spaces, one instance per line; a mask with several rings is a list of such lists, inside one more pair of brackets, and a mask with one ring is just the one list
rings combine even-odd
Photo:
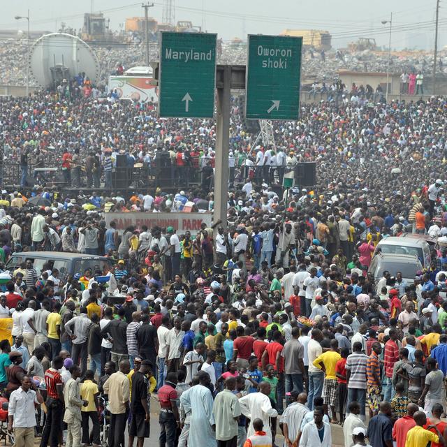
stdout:
[[200,231],[203,222],[207,227],[212,224],[210,212],[106,212],[104,216],[107,226],[112,221],[117,223],[119,233],[131,225],[138,230],[145,225],[149,230],[154,226],[161,228],[173,226],[179,234],[189,231],[191,235],[195,235]]

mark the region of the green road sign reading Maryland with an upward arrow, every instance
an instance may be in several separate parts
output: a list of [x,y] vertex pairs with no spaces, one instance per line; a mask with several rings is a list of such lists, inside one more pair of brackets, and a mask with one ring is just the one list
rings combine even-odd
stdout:
[[161,33],[160,117],[213,117],[216,39],[216,34]]

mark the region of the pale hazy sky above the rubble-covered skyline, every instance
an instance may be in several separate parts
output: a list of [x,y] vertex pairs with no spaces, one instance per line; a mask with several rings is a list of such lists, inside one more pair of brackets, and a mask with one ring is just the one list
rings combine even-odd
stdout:
[[[143,15],[141,2],[94,0],[94,10],[110,17],[112,29],[124,26],[126,17]],[[161,22],[163,0],[153,1],[149,15]],[[173,0],[175,20],[191,20],[223,40],[247,34],[279,34],[289,29],[325,29],[332,46],[342,47],[358,37],[375,38],[388,46],[388,20],[393,13],[392,47],[424,47],[434,42],[436,0]],[[439,48],[447,43],[447,3],[439,10]],[[30,9],[31,29],[57,31],[61,22],[82,27],[83,13],[91,10],[89,0],[15,0],[2,2],[1,29],[26,29],[26,21],[14,20]]]

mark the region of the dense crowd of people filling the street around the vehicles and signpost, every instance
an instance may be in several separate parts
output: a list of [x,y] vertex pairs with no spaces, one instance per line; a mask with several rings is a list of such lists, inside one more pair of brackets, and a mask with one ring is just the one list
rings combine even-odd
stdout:
[[[214,121],[73,86],[0,100],[4,159],[22,173],[0,193],[0,388],[17,446],[105,432],[142,446],[156,401],[161,447],[328,447],[336,425],[346,447],[444,446],[447,251],[412,278],[368,267],[387,237],[447,235],[446,98],[387,104],[351,86],[255,145],[233,97],[228,215],[191,235],[105,217],[212,212]],[[149,176],[161,154],[175,184],[114,190],[117,155]],[[62,186],[38,169],[49,161]],[[284,191],[303,161],[316,184]],[[104,258],[71,274],[56,252]]]

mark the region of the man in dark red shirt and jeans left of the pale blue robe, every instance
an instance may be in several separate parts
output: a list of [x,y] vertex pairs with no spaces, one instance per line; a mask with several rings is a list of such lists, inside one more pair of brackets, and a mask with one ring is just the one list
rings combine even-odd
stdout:
[[177,428],[180,428],[179,410],[177,408],[177,374],[168,372],[165,384],[159,389],[160,402],[160,445],[173,446]]

